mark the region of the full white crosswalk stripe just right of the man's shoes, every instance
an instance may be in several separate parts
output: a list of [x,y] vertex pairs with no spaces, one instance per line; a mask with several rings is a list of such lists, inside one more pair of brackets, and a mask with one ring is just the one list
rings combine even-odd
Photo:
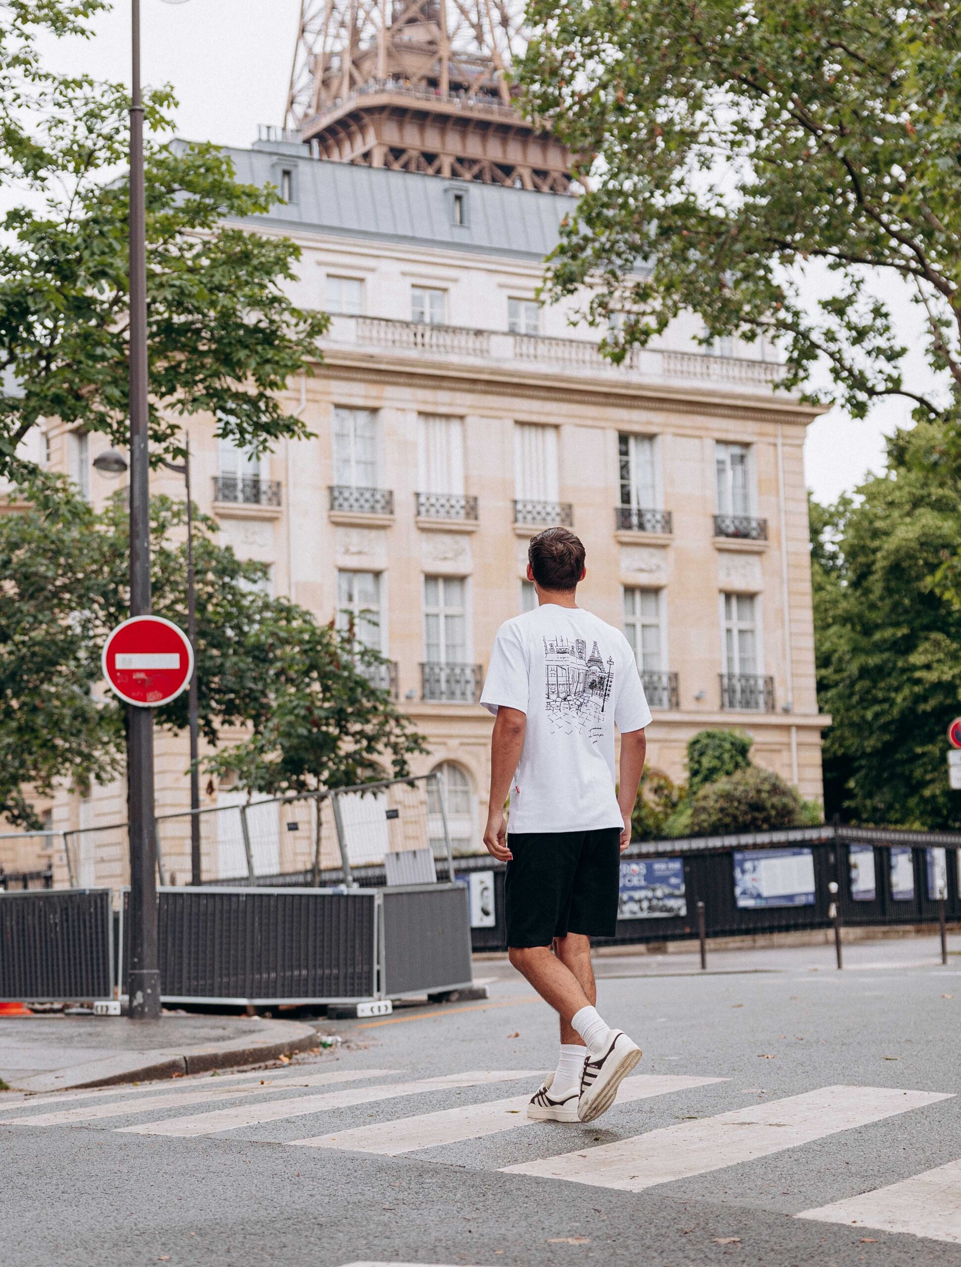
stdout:
[[951,1096],[939,1092],[891,1087],[822,1087],[771,1104],[650,1130],[586,1152],[505,1166],[503,1171],[642,1192],[658,1183],[768,1157],[948,1098]]

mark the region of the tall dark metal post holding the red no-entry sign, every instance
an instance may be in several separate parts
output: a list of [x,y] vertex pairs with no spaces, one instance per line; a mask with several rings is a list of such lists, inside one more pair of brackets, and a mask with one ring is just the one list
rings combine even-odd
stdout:
[[[148,616],[150,454],[147,403],[147,247],[143,193],[143,99],[141,96],[141,4],[131,0],[131,616]],[[153,816],[153,712],[127,708],[127,783],[131,845],[129,1012],[160,1017],[157,962],[157,825]]]

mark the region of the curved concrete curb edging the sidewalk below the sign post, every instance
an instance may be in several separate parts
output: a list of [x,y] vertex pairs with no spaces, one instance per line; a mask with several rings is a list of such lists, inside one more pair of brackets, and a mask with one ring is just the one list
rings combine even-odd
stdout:
[[319,1038],[312,1025],[303,1025],[299,1021],[264,1021],[262,1025],[265,1033],[257,1040],[242,1038],[188,1048],[183,1052],[170,1049],[132,1052],[129,1055],[90,1060],[49,1073],[38,1073],[19,1081],[13,1090],[35,1093],[112,1087],[123,1082],[151,1082],[179,1074],[261,1064],[276,1060],[281,1055],[294,1055],[297,1052],[309,1052],[319,1047]]

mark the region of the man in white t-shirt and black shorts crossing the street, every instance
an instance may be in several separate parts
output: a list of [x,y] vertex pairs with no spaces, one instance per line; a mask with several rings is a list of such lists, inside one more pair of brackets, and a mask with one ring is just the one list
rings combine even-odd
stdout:
[[620,854],[630,844],[650,710],[628,640],[577,606],[581,540],[548,528],[527,560],[539,606],[497,631],[480,696],[497,717],[484,844],[507,863],[510,960],[560,1016],[560,1059],[527,1116],[593,1121],[640,1059],[597,1014],[591,938],[616,929]]

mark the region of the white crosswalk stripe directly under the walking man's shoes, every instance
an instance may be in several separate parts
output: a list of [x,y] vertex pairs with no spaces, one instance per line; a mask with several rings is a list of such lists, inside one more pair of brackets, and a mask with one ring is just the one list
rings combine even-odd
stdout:
[[[724,1081],[724,1078],[642,1074],[636,1078],[626,1078],[621,1083],[617,1104],[630,1104],[634,1100],[647,1100],[650,1096],[666,1096],[672,1091],[686,1091],[690,1087],[704,1087],[711,1082]],[[399,1121],[371,1123],[369,1126],[341,1130],[333,1135],[317,1135],[313,1139],[294,1139],[292,1143],[304,1148],[344,1148],[350,1152],[397,1157],[401,1153],[412,1153],[418,1148],[459,1144],[464,1139],[480,1139],[502,1130],[534,1126],[536,1123],[526,1116],[529,1100],[530,1096],[526,1095],[512,1096],[508,1100],[441,1109],[439,1112],[420,1114],[416,1117],[403,1117]]]

